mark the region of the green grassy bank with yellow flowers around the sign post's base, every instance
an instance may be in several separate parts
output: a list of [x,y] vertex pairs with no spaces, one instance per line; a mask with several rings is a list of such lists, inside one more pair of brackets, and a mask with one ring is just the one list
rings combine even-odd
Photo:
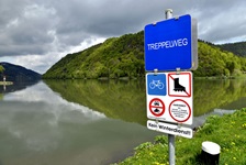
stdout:
[[[246,164],[246,108],[223,117],[209,117],[193,139],[176,136],[176,164],[200,165],[201,145],[212,141],[221,146],[220,165]],[[168,165],[167,136],[156,136],[135,148],[135,154],[119,165]],[[116,164],[114,164],[116,165]]]

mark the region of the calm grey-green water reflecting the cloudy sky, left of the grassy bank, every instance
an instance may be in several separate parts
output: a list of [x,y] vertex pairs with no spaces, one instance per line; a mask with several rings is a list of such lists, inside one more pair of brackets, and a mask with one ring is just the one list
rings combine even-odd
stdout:
[[157,134],[68,102],[43,82],[0,105],[0,161],[8,165],[109,164]]

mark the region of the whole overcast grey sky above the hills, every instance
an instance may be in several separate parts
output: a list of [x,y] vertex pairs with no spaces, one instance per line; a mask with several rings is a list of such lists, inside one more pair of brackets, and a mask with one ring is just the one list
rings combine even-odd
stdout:
[[1,0],[0,62],[44,74],[69,53],[165,20],[167,9],[195,18],[201,40],[242,42],[245,7],[246,0]]

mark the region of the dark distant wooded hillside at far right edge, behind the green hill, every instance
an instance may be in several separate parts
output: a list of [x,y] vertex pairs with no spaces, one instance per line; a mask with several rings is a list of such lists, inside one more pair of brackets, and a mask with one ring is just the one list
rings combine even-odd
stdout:
[[227,43],[217,46],[220,46],[222,50],[233,52],[235,55],[246,57],[246,42]]

